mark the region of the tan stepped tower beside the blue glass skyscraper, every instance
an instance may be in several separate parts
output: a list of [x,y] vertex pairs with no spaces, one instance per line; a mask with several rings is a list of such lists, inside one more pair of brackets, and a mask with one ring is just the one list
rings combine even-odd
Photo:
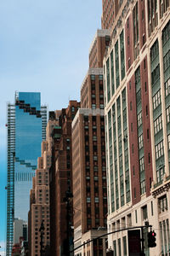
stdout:
[[32,180],[30,211],[28,213],[29,255],[41,255],[40,227],[43,223],[42,249],[48,253],[50,246],[49,167],[51,166],[52,132],[55,120],[48,119],[46,140],[42,142],[42,156],[37,159],[36,176]]

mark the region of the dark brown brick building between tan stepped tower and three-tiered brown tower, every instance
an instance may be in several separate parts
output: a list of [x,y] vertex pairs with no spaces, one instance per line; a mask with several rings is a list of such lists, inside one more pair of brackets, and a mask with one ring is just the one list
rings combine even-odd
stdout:
[[79,107],[79,102],[70,101],[68,108],[54,113],[57,123],[52,132],[52,166],[49,171],[51,255],[68,255],[68,243],[71,247],[73,241],[71,123]]

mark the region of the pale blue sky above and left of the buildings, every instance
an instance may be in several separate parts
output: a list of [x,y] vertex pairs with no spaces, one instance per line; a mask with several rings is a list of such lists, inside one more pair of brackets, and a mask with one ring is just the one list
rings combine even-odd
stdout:
[[[6,106],[14,91],[40,91],[49,110],[80,100],[102,0],[0,2],[0,246],[6,239]],[[3,249],[0,249],[3,256]]]

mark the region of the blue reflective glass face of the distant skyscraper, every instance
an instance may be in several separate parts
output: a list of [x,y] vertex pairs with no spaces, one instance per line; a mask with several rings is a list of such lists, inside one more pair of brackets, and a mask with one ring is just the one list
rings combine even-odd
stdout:
[[15,107],[14,218],[27,221],[31,177],[41,156],[42,118],[40,93],[19,92]]

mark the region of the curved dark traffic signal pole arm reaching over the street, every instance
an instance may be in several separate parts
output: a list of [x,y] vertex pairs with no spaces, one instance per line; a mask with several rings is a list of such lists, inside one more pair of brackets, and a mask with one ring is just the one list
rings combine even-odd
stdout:
[[142,253],[142,256],[144,256],[144,231],[143,229],[144,228],[152,228],[152,225],[144,225],[144,226],[135,226],[135,227],[129,227],[129,228],[124,228],[122,230],[115,230],[115,231],[111,231],[109,233],[105,233],[104,235],[102,236],[97,236],[96,238],[92,239],[92,240],[89,240],[87,242],[84,242],[82,245],[80,245],[79,247],[77,248],[74,248],[73,250],[70,251],[70,253],[73,253],[74,251],[76,251],[78,248],[80,247],[83,247],[84,245],[88,244],[89,242],[91,241],[94,241],[94,240],[97,240],[99,239],[100,237],[103,237],[103,236],[108,236],[108,235],[111,235],[111,234],[114,234],[114,233],[117,233],[117,232],[121,232],[121,231],[124,231],[124,230],[136,230],[136,229],[141,229],[141,234],[142,234],[142,249],[141,249],[141,253]]

